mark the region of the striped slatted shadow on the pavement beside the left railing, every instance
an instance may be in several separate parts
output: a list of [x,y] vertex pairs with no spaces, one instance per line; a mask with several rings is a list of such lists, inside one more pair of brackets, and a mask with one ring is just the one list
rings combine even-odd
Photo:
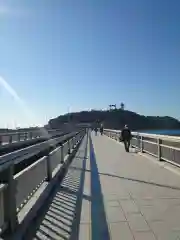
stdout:
[[56,187],[45,206],[37,213],[24,240],[78,239],[85,166],[87,157],[87,140],[71,163],[62,183]]

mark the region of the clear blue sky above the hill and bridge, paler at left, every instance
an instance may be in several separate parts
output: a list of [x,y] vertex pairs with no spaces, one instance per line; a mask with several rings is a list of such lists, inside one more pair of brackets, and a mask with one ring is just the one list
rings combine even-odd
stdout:
[[180,118],[179,0],[0,0],[0,127],[121,101]]

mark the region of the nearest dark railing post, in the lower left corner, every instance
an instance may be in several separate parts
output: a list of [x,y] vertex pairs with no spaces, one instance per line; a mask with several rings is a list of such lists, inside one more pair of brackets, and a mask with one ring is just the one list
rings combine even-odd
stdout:
[[13,233],[18,224],[16,213],[16,181],[14,180],[13,164],[1,172],[0,182],[7,184],[7,188],[4,190],[4,220],[7,223],[7,233]]

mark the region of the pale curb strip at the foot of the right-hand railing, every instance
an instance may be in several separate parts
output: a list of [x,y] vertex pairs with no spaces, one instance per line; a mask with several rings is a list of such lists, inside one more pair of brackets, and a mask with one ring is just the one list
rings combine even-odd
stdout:
[[[107,137],[108,137],[108,136],[107,136]],[[110,140],[113,140],[114,142],[116,142],[116,144],[119,144],[119,145],[123,146],[123,143],[118,142],[116,139],[113,139],[113,138],[110,138],[110,137],[108,137],[108,138],[109,138]],[[168,171],[170,171],[170,172],[173,172],[173,173],[175,173],[175,174],[177,174],[177,175],[180,176],[180,168],[179,168],[178,166],[176,166],[175,164],[173,164],[173,163],[169,163],[169,162],[166,162],[166,161],[158,161],[158,160],[156,160],[155,157],[149,156],[149,155],[146,154],[146,153],[141,153],[140,151],[138,151],[138,152],[133,152],[133,153],[131,153],[131,154],[138,154],[138,155],[140,155],[141,157],[144,157],[144,158],[150,160],[152,163],[154,163],[154,164],[156,164],[156,165],[159,165],[159,167],[164,168],[164,169],[166,169],[166,170],[168,170]],[[167,165],[167,166],[166,166],[166,165]]]

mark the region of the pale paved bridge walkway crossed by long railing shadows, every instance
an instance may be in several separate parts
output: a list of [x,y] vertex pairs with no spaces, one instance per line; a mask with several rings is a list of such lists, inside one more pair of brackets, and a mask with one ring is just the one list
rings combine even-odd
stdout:
[[178,240],[180,176],[92,134],[25,239]]

